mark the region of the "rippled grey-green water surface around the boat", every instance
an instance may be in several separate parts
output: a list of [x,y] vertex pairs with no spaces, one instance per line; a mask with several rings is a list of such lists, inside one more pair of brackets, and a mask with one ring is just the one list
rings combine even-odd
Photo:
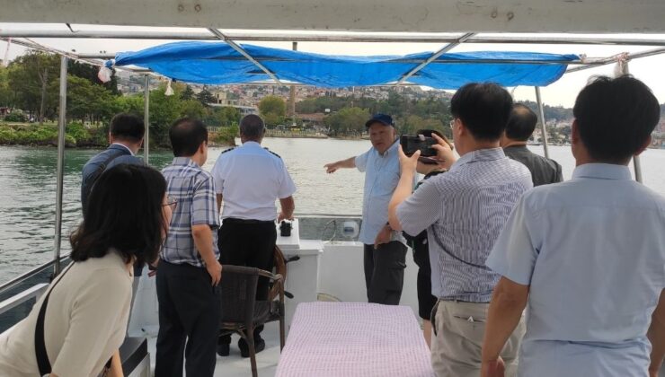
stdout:
[[[300,214],[357,215],[362,208],[363,175],[356,170],[324,172],[324,163],[366,151],[369,142],[332,139],[266,139],[263,145],[282,156],[297,185]],[[211,148],[204,169],[210,170],[224,148]],[[542,153],[542,147],[532,150]],[[80,221],[81,168],[95,150],[67,150],[63,206],[65,238]],[[550,147],[550,154],[570,179],[574,160],[570,147]],[[53,258],[56,202],[55,148],[0,146],[0,283]],[[173,158],[170,152],[151,153],[150,162],[161,169]],[[643,154],[645,184],[665,195],[665,150]]]

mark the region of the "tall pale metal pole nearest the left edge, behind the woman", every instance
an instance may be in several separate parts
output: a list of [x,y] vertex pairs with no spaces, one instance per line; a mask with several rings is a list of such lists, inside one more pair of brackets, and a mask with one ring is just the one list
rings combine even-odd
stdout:
[[54,240],[53,276],[60,273],[62,243],[62,190],[65,172],[65,133],[67,132],[67,57],[60,57],[60,106],[58,108],[58,167],[56,169],[56,236]]

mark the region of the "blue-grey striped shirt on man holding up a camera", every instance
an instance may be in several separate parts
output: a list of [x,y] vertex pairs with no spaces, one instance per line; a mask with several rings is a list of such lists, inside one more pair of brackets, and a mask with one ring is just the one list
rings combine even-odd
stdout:
[[484,266],[485,259],[510,211],[532,187],[523,164],[501,148],[481,149],[465,153],[397,206],[404,232],[427,229],[433,295],[490,302],[500,276]]

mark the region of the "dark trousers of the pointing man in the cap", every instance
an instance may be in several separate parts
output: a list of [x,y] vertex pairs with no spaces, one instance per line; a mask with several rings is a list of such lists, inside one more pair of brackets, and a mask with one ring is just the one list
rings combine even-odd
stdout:
[[365,285],[368,302],[399,305],[402,297],[406,246],[400,241],[365,245]]

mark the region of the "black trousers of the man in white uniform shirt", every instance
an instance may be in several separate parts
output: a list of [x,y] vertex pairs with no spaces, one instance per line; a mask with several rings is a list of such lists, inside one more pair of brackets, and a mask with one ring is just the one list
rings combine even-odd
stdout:
[[[219,263],[271,271],[275,263],[276,241],[277,229],[273,222],[224,219],[217,237]],[[267,277],[259,277],[256,299],[267,300],[269,288],[270,280]],[[254,329],[254,341],[261,338],[262,330],[263,326]],[[219,343],[231,343],[231,336],[220,337]]]

